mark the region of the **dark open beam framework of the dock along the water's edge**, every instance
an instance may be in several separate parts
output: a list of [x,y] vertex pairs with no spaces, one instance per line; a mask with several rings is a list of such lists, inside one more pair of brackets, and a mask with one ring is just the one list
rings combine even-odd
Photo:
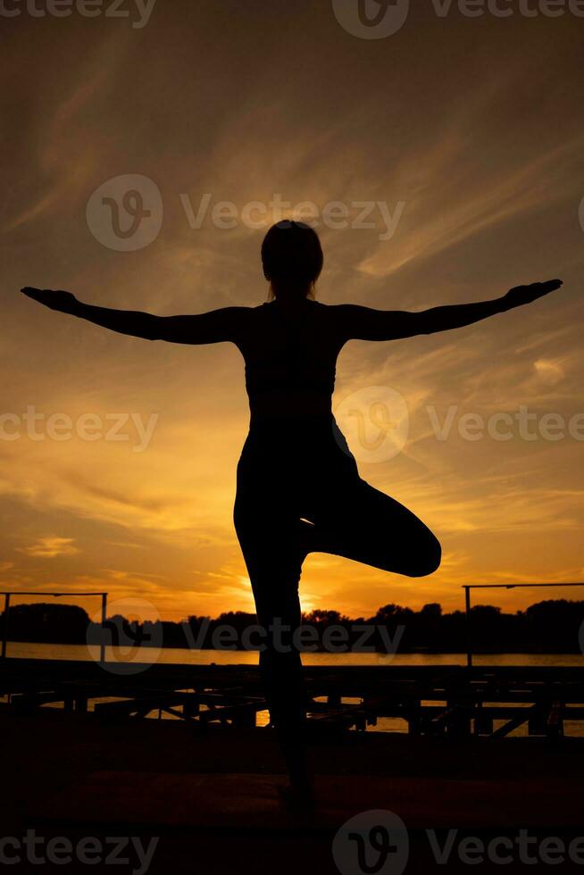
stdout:
[[[193,723],[254,727],[266,711],[254,665],[156,662],[131,673],[121,663],[8,658],[0,696],[21,712],[45,705],[93,712],[104,721],[163,713]],[[317,732],[363,731],[401,719],[411,735],[504,737],[527,724],[554,739],[565,721],[584,721],[584,672],[558,666],[305,667],[309,721]]]

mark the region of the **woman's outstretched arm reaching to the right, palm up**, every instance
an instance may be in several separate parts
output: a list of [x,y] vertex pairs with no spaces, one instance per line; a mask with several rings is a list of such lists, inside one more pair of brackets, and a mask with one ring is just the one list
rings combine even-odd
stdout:
[[401,337],[463,328],[464,325],[471,325],[496,313],[530,304],[538,297],[549,295],[561,285],[561,279],[549,279],[530,286],[517,286],[494,301],[452,304],[420,312],[373,310],[357,304],[339,304],[335,309],[338,312],[341,333],[346,340],[397,340]]

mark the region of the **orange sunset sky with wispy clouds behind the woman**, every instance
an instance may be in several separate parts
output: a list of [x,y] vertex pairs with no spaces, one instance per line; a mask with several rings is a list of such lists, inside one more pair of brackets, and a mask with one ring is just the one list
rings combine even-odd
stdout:
[[[316,225],[325,304],[418,310],[564,281],[466,329],[345,347],[335,405],[389,387],[409,412],[392,458],[362,461],[347,435],[361,474],[436,531],[444,559],[408,579],[313,554],[305,610],[454,610],[463,583],[584,579],[584,418],[580,440],[568,430],[584,412],[584,18],[469,18],[455,6],[440,17],[428,3],[393,36],[362,39],[324,0],[158,0],[141,28],[134,14],[2,21],[0,588],[105,589],[171,620],[253,611],[232,522],[248,423],[238,350],[122,337],[18,290],[163,315],[260,304],[259,247],[279,216],[268,208],[250,228],[240,213],[274,195],[319,210],[402,204],[386,239],[379,210],[374,228]],[[92,233],[88,200],[135,174],[160,191],[162,227],[117,251]],[[205,194],[209,214],[192,228],[185,202],[196,212]],[[222,201],[238,211],[231,229],[210,215]],[[438,440],[428,408],[442,423],[451,405]],[[533,440],[518,425],[505,441],[459,433],[464,414],[513,417],[521,405],[537,414]],[[127,440],[34,439],[23,424],[14,438],[28,407],[73,422],[157,419],[136,452],[131,421]],[[562,439],[538,434],[550,412],[566,422]],[[582,592],[480,600],[514,610]]]

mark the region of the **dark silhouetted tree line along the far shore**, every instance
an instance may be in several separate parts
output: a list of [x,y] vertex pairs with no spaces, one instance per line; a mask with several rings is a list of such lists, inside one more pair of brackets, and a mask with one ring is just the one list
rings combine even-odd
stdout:
[[[201,649],[250,649],[254,641],[254,613],[223,612],[214,619],[190,615],[183,621],[129,621],[120,614],[107,618],[110,636],[106,643],[131,642],[135,646],[192,647]],[[0,636],[4,637],[4,612],[0,613]],[[303,614],[303,624],[314,631],[311,644],[330,650],[332,629],[341,629],[346,649],[359,643],[387,652],[388,638],[400,653],[464,653],[468,623],[463,611],[445,613],[438,603],[424,604],[420,611],[399,604],[386,604],[369,618],[349,618],[338,611],[314,610]],[[225,630],[230,630],[226,634]],[[327,632],[328,630],[328,632]],[[385,634],[383,633],[385,630]],[[16,604],[9,610],[8,639],[44,644],[98,644],[104,635],[100,623],[76,604]],[[121,640],[116,639],[120,635]],[[327,638],[329,637],[329,638]],[[216,646],[220,641],[220,646]],[[505,613],[491,604],[471,608],[471,641],[475,653],[578,654],[584,648],[584,601],[548,599],[524,611]],[[213,643],[214,642],[214,643]]]

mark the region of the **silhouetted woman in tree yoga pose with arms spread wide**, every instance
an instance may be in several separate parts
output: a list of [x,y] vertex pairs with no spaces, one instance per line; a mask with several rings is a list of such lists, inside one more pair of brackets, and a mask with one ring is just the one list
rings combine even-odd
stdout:
[[384,571],[421,577],[436,571],[440,545],[421,520],[357,471],[331,411],[337,357],[348,340],[397,340],[461,328],[528,304],[560,280],[513,288],[478,304],[422,312],[372,310],[313,300],[322,251],[313,229],[274,225],[263,240],[269,303],[188,316],[155,316],[81,304],[69,292],[24,288],[54,310],[104,328],[180,344],[228,342],[246,362],[251,412],[238,462],[234,521],[266,632],[260,655],[271,721],[288,758],[293,798],[309,795],[305,768],[305,690],[293,630],[298,582],[309,553],[330,553]]

